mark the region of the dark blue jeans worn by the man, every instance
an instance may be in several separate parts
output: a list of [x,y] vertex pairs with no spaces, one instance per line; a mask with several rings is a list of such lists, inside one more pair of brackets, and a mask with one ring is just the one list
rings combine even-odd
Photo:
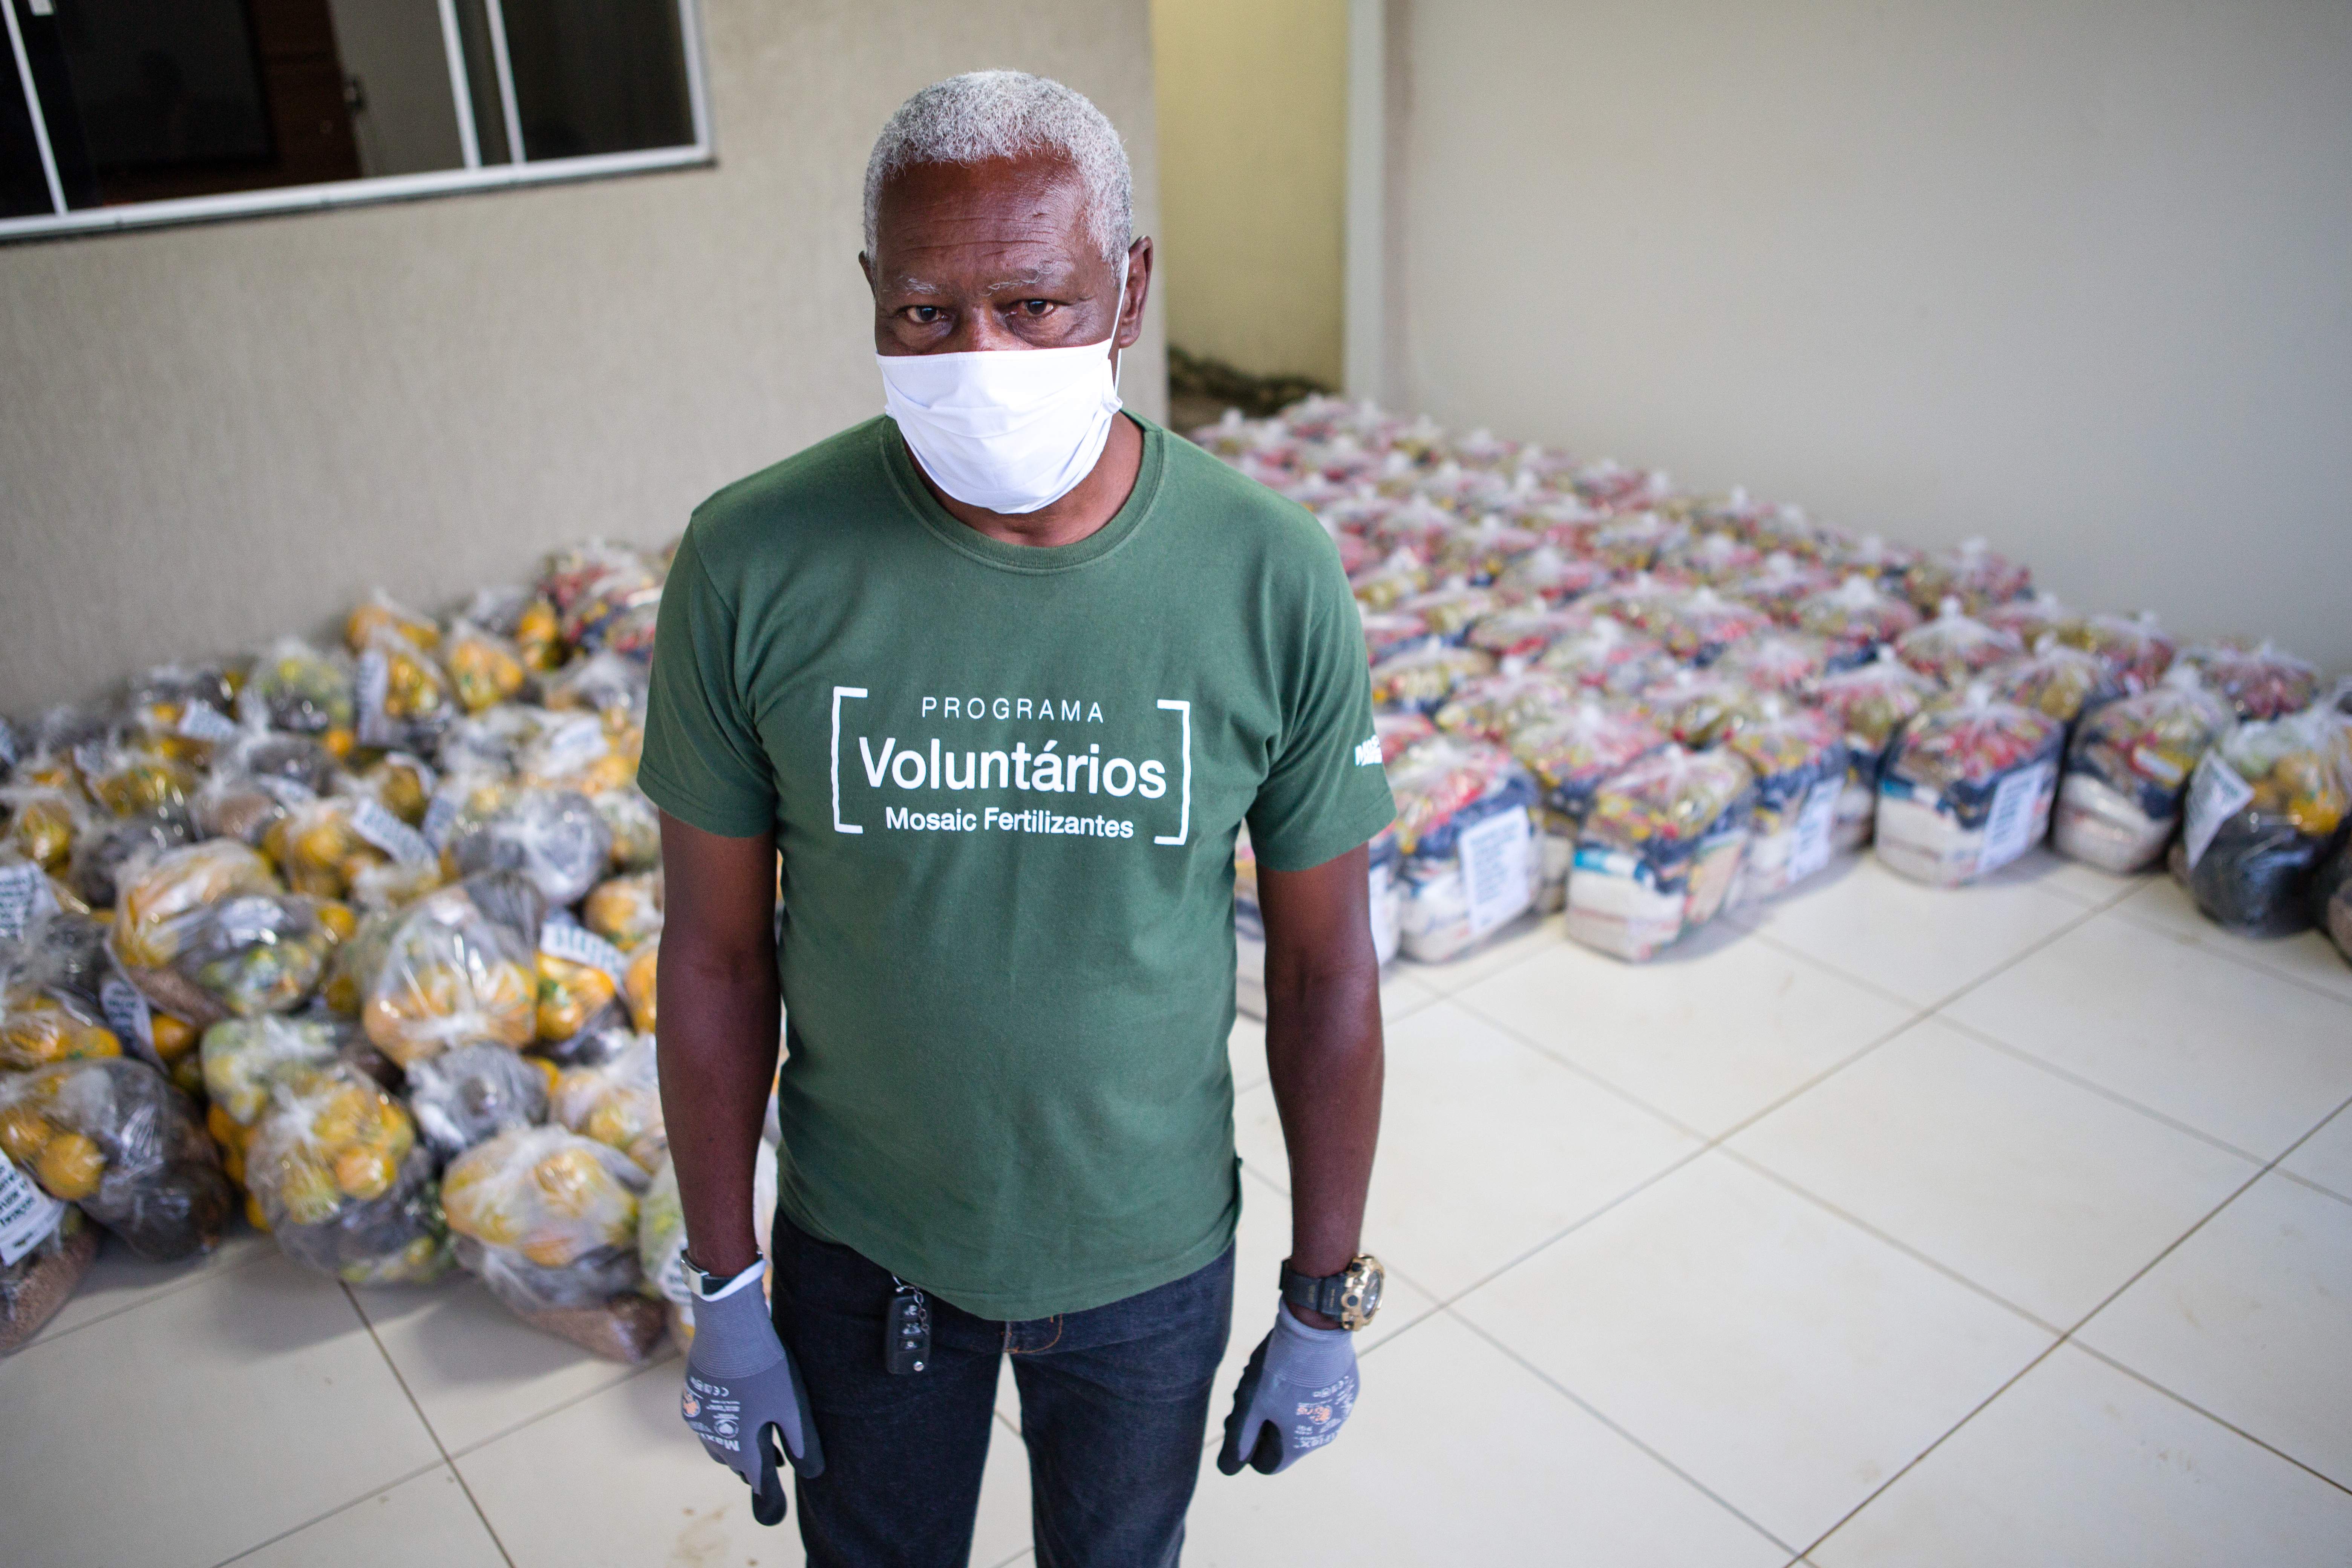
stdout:
[[1037,1568],[1174,1568],[1232,1328],[1232,1248],[1155,1291],[1025,1324],[934,1295],[931,1363],[908,1375],[882,1371],[887,1269],[783,1215],[771,1258],[776,1333],[826,1446],[826,1474],[793,1481],[809,1568],[964,1568],[1007,1354]]

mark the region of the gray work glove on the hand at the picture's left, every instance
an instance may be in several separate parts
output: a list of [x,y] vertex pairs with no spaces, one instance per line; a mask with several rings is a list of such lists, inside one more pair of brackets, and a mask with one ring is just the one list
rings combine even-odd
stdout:
[[[750,1486],[750,1512],[760,1523],[783,1521],[783,1474],[790,1460],[802,1476],[826,1472],[826,1450],[809,1420],[809,1394],[793,1366],[793,1352],[776,1338],[755,1262],[710,1295],[691,1293],[694,1349],[687,1352],[687,1387],[677,1408],[713,1460]],[[776,1455],[783,1443],[783,1455]]]

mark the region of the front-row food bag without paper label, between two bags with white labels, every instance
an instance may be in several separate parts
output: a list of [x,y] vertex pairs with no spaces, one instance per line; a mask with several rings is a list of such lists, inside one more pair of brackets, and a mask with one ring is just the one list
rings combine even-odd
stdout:
[[1569,938],[1644,961],[1722,912],[1748,849],[1755,776],[1670,745],[1592,795],[1569,872]]

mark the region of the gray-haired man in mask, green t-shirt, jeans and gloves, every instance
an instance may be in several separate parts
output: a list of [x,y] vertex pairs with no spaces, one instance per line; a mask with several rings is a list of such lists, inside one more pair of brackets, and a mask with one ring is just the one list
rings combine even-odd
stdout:
[[682,1408],[762,1521],[797,1472],[809,1563],[964,1563],[1009,1354],[1037,1561],[1174,1563],[1230,1333],[1244,823],[1291,1258],[1244,1281],[1279,1298],[1228,1474],[1336,1436],[1378,1305],[1392,806],[1355,604],[1308,512],[1120,411],[1152,244],[1094,103],[1011,71],[908,99],[858,263],[887,416],[706,501],[661,604]]

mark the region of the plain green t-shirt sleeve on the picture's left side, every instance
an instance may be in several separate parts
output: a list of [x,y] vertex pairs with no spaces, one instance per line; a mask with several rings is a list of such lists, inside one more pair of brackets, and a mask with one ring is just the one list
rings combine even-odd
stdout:
[[776,778],[743,710],[734,663],[734,607],[703,569],[689,527],[654,623],[637,788],[682,823],[753,839],[776,825]]

